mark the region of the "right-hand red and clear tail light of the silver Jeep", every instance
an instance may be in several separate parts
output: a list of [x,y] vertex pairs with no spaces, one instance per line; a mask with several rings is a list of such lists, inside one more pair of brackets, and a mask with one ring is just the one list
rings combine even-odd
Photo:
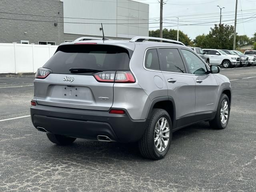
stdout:
[[130,71],[105,71],[94,74],[98,82],[135,83],[136,80]]

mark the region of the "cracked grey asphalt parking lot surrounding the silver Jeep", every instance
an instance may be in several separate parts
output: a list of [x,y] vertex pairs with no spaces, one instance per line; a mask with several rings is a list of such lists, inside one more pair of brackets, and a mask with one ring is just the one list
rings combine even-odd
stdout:
[[136,144],[52,144],[29,117],[34,76],[0,76],[0,192],[255,192],[256,67],[221,74],[232,80],[228,127],[178,130],[159,161]]

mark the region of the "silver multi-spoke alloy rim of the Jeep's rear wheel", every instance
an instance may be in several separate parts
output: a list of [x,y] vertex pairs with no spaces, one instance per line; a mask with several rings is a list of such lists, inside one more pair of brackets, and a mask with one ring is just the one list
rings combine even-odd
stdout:
[[154,143],[159,152],[163,152],[169,142],[170,128],[166,118],[161,117],[155,127]]

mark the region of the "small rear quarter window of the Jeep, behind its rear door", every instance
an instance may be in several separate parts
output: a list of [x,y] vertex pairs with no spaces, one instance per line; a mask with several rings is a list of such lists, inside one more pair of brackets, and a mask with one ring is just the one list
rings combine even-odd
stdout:
[[152,70],[160,70],[156,49],[149,49],[145,56],[145,67]]

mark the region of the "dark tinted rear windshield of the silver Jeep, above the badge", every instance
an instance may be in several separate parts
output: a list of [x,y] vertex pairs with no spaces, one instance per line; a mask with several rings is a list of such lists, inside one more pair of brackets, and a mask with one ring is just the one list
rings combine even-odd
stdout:
[[112,45],[62,45],[44,68],[58,74],[71,74],[70,68],[130,70],[130,53],[131,50]]

